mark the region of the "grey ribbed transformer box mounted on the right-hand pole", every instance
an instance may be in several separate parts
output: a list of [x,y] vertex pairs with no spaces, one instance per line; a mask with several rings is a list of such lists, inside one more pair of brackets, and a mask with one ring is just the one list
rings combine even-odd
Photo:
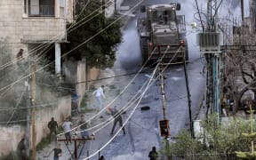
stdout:
[[196,36],[197,45],[201,50],[216,50],[223,45],[223,40],[220,32],[204,32]]

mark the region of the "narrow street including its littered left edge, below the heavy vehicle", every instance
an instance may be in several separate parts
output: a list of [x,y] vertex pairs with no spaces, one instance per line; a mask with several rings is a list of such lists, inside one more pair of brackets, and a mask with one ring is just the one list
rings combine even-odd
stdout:
[[[133,6],[140,1],[124,1],[123,5]],[[155,1],[145,1],[144,4],[154,4]],[[162,2],[162,1],[161,1]],[[165,1],[166,2],[166,1]],[[164,3],[164,1],[162,2]],[[181,12],[184,13],[184,7]],[[123,114],[123,124],[126,134],[124,135],[122,130],[116,133],[120,126],[116,124],[114,135],[110,134],[113,122],[106,124],[111,116],[108,110],[102,110],[102,113],[92,119],[91,127],[99,125],[89,131],[90,134],[95,135],[95,140],[86,141],[80,143],[77,150],[77,156],[79,159],[90,157],[91,160],[98,160],[99,155],[105,156],[109,160],[147,160],[148,152],[153,146],[156,149],[161,148],[161,137],[159,132],[159,121],[163,119],[163,104],[161,99],[161,90],[159,82],[156,81],[152,84],[148,92],[146,92],[140,104],[137,105],[138,100],[132,100],[132,97],[138,92],[143,92],[140,89],[148,80],[148,76],[152,74],[153,68],[144,68],[140,74],[136,74],[142,65],[142,59],[140,56],[140,40],[138,31],[136,28],[137,17],[140,16],[139,11],[133,11],[136,16],[132,17],[124,27],[123,30],[123,43],[119,45],[116,54],[116,63],[114,68],[108,68],[101,72],[101,77],[111,77],[106,80],[98,81],[94,84],[95,87],[99,87],[104,84],[106,94],[106,100],[104,100],[104,107],[116,107],[127,108],[128,103],[132,105],[128,106],[125,114]],[[187,23],[192,21],[192,17],[188,12]],[[186,15],[187,16],[187,15]],[[196,46],[196,32],[194,32],[189,25],[187,26],[187,38],[188,38],[188,83],[190,88],[191,100],[192,100],[192,117],[196,118],[199,112],[200,103],[204,94],[204,75],[203,73],[203,59],[200,59],[200,53]],[[121,76],[123,75],[123,76]],[[166,93],[166,112],[167,118],[170,122],[171,136],[175,137],[182,129],[189,129],[189,116],[188,116],[188,99],[185,83],[184,69],[182,65],[170,66],[165,69],[164,79],[165,93]],[[123,92],[123,90],[126,90]],[[91,112],[85,113],[85,117],[91,118],[97,113],[94,110],[97,106],[97,102],[89,92],[88,108]],[[138,97],[138,96],[137,96]],[[131,101],[132,100],[132,101]],[[114,101],[114,102],[113,102]],[[148,106],[148,110],[141,109]],[[135,108],[133,113],[133,108]],[[133,113],[133,114],[132,114]],[[129,121],[127,118],[131,116]],[[77,118],[72,117],[73,120],[78,121]],[[113,118],[112,118],[113,119]],[[126,123],[127,121],[127,123]],[[76,125],[75,125],[76,126]],[[79,131],[79,130],[78,130]],[[78,137],[80,133],[78,133]],[[62,136],[64,138],[64,136]],[[52,147],[46,148],[41,152],[41,156],[45,156],[46,153],[51,151]],[[61,148],[63,154],[60,159],[67,159],[70,157],[70,153],[74,152],[74,143],[68,145],[68,148],[61,142]],[[98,151],[100,150],[100,154]],[[39,154],[40,155],[40,154]],[[50,158],[48,156],[45,158]],[[45,159],[44,158],[44,159]]]

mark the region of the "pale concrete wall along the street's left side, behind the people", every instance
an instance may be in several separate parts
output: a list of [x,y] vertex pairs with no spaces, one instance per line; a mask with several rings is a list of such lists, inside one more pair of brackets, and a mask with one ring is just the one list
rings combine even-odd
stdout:
[[[61,97],[56,105],[57,107],[52,106],[36,110],[36,143],[49,133],[47,124],[51,117],[54,117],[58,124],[61,124],[66,117],[71,116],[71,96]],[[20,125],[1,126],[0,131],[0,154],[15,151],[21,138],[25,137],[25,127]]]

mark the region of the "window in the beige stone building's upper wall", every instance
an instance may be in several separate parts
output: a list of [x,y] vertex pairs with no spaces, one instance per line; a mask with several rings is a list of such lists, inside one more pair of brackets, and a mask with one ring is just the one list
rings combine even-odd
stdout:
[[[25,0],[26,1],[26,0]],[[54,0],[27,0],[28,16],[54,16]]]

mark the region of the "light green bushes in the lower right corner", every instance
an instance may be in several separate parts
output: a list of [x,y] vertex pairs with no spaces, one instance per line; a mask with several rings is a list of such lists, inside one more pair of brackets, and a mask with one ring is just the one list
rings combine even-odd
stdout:
[[191,138],[190,132],[182,131],[178,140],[170,148],[162,148],[163,156],[185,159],[230,159],[236,160],[236,150],[248,151],[249,140],[242,132],[248,132],[248,123],[242,119],[230,118],[228,122],[217,123],[217,116],[210,116],[202,122],[204,133],[196,139]]

